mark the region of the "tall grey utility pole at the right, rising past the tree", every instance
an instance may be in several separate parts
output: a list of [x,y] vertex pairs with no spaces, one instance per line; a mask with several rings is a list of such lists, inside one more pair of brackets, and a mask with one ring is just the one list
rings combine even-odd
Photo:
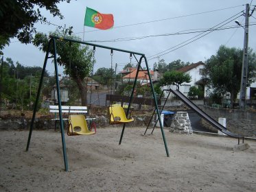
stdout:
[[246,109],[246,84],[247,84],[247,69],[248,69],[248,32],[249,32],[249,4],[246,4],[245,11],[245,25],[244,25],[244,51],[242,61],[242,74],[241,74],[241,86],[240,86],[240,109]]

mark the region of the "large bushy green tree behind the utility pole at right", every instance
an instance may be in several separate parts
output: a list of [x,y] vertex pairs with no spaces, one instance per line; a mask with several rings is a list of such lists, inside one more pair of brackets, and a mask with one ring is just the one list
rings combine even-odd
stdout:
[[[216,55],[206,61],[203,72],[208,86],[213,88],[214,93],[219,93],[222,97],[227,92],[231,94],[231,108],[240,91],[242,56],[242,49],[221,45]],[[249,49],[247,86],[255,80],[253,77],[255,69],[256,55],[252,49]]]

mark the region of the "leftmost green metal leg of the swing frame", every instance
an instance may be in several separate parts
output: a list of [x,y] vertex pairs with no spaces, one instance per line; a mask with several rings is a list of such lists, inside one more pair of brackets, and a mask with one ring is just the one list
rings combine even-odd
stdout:
[[37,94],[36,94],[36,102],[34,104],[34,111],[33,111],[32,121],[31,121],[31,124],[30,124],[30,134],[28,135],[28,139],[27,139],[26,151],[28,151],[28,149],[30,148],[30,140],[31,140],[31,136],[32,136],[34,120],[35,120],[35,117],[36,117],[36,109],[37,109],[37,106],[38,106],[38,101],[39,101],[39,97],[40,97],[40,91],[41,91],[42,84],[43,84],[43,76],[45,74],[45,68],[46,68],[47,60],[49,58],[49,50],[51,49],[51,42],[52,42],[52,39],[49,40],[47,53],[45,54],[45,62],[43,64],[43,70],[42,70],[42,74],[41,74],[41,77],[40,77],[38,91],[37,91]]

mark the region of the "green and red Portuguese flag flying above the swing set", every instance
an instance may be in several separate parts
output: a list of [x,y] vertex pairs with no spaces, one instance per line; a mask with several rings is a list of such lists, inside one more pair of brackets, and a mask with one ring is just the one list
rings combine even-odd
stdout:
[[110,29],[114,25],[113,14],[101,14],[91,8],[86,8],[84,25],[97,29]]

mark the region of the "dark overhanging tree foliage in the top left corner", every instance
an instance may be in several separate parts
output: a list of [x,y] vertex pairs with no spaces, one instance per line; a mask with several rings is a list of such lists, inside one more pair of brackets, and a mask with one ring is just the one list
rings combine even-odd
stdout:
[[[65,0],[2,0],[0,6],[0,54],[5,45],[9,45],[10,38],[17,37],[21,43],[31,43],[36,32],[34,23],[47,22],[40,12],[41,8],[48,10],[53,16],[64,17],[57,7],[57,3]],[[66,0],[67,3],[70,0]]]

